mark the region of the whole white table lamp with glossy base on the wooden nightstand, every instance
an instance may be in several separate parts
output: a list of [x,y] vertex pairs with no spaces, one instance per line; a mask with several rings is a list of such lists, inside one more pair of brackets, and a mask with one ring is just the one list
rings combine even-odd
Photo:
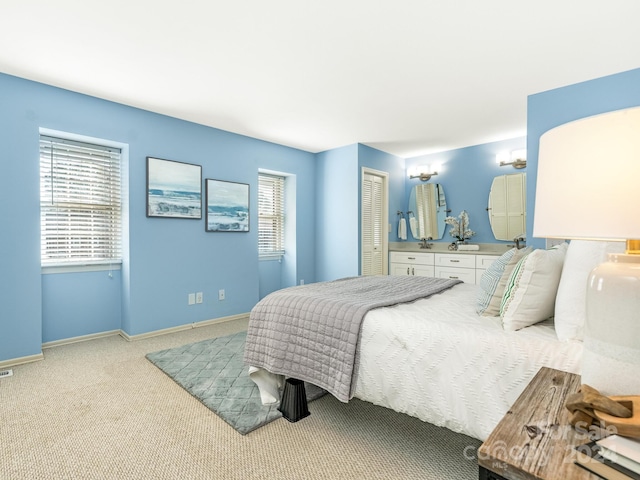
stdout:
[[640,107],[540,137],[533,235],[627,242],[585,286],[582,383],[640,395]]

